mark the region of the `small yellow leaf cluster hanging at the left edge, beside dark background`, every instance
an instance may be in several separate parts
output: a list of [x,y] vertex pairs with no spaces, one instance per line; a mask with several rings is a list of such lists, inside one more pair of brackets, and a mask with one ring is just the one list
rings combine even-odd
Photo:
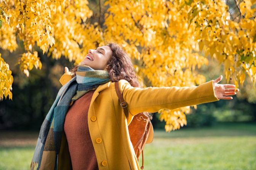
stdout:
[[0,54],[0,101],[3,100],[3,96],[5,99],[9,96],[9,99],[13,99],[13,94],[11,93],[13,84],[13,76],[11,75],[11,71],[9,69],[9,65],[5,63],[3,58],[1,58]]

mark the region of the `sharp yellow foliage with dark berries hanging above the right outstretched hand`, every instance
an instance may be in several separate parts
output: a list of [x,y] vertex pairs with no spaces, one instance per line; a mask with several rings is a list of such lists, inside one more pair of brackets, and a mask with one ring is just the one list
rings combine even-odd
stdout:
[[256,60],[256,9],[255,1],[236,2],[240,15],[235,18],[222,0],[194,1],[190,11],[200,11],[192,17],[200,49],[224,63],[227,81],[234,79],[238,87],[238,82],[243,85],[245,72],[256,82],[252,70]]

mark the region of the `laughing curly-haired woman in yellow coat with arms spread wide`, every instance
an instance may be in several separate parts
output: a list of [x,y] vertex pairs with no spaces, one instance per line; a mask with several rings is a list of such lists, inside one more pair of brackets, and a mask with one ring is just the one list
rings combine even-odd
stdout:
[[[60,80],[67,83],[43,122],[31,169],[138,170],[127,128],[134,115],[236,94],[235,85],[218,84],[222,76],[198,87],[141,89],[130,58],[114,43],[89,50],[73,76],[64,74]],[[128,119],[115,91],[117,81]]]

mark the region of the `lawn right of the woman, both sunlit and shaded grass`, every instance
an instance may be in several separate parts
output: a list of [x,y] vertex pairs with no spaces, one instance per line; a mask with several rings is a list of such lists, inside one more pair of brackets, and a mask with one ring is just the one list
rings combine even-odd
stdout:
[[155,131],[144,148],[146,170],[256,170],[255,160],[256,124]]

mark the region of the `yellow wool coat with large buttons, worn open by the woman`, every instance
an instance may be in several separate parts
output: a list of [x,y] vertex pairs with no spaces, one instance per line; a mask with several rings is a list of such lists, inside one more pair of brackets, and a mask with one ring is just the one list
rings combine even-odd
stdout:
[[[62,81],[67,80],[69,78],[62,77]],[[198,87],[141,89],[131,87],[126,80],[120,80],[119,87],[128,105],[128,120],[120,106],[113,82],[100,85],[96,89],[88,111],[88,126],[99,170],[139,170],[127,126],[137,113],[218,101],[214,94],[213,81]],[[63,146],[67,145],[64,143]],[[65,157],[68,150],[63,148],[60,154]],[[62,161],[59,160],[60,162]],[[59,169],[64,167],[60,165]]]

